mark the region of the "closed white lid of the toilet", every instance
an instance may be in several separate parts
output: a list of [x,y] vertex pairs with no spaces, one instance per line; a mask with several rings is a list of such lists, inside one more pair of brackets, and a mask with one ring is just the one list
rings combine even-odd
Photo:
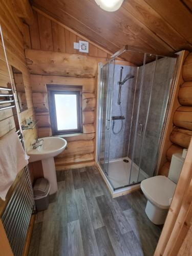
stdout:
[[165,176],[155,176],[141,182],[146,198],[162,209],[169,208],[175,188],[176,184]]

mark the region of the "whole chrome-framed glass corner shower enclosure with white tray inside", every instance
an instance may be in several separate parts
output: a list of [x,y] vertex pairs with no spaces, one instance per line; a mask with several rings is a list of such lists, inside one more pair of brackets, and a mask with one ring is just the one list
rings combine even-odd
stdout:
[[[139,66],[117,58],[130,51]],[[156,172],[176,60],[125,46],[99,64],[97,165],[114,190]]]

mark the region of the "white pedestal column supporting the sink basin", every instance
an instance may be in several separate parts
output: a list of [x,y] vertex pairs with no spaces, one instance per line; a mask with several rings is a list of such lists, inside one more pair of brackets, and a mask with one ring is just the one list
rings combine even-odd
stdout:
[[44,178],[46,178],[50,183],[50,192],[49,195],[52,195],[57,192],[57,177],[56,177],[56,170],[55,170],[55,162],[54,158],[45,158],[42,159],[42,170],[44,172]]

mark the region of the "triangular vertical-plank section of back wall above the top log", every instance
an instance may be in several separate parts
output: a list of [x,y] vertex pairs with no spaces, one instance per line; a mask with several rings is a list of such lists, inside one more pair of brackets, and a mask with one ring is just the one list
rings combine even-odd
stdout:
[[[28,49],[77,54],[77,50],[73,49],[73,42],[83,40],[81,37],[39,12],[33,11],[33,13],[34,22],[29,26],[29,31],[26,32]],[[29,33],[31,42],[29,41]],[[78,54],[101,58],[109,56],[108,53],[93,44],[89,44],[89,53],[78,52]]]

